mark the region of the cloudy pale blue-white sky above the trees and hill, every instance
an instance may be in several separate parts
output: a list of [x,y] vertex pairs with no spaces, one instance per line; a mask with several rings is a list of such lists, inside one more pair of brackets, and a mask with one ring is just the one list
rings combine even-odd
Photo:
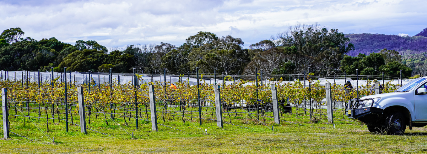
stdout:
[[[110,48],[171,43],[199,31],[241,38],[244,47],[296,24],[344,34],[409,35],[427,28],[427,0],[0,0],[0,29]],[[424,11],[423,11],[424,10]]]

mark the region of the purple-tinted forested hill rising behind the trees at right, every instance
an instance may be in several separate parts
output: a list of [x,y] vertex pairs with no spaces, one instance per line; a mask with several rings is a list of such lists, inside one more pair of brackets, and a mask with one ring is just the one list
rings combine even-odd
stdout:
[[[386,34],[345,34],[353,43],[354,50],[347,53],[350,56],[370,54],[387,48],[401,54],[419,54],[427,51],[427,28],[413,37],[401,37]],[[410,51],[410,52],[407,52]]]

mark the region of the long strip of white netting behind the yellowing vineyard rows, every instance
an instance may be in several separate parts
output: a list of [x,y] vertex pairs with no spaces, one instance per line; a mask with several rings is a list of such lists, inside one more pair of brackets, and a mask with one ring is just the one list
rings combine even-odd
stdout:
[[[27,74],[28,73],[28,74]],[[29,82],[38,82],[39,80],[39,75],[38,72],[36,71],[0,71],[1,74],[1,80],[9,80],[9,81],[20,81],[20,80],[27,80],[27,75],[28,75],[28,81]],[[75,82],[76,84],[83,84],[85,82],[88,82],[90,80],[88,80],[88,74],[81,74],[77,71],[71,72],[71,73],[67,73],[66,74],[67,77],[67,82]],[[105,82],[109,82],[109,75],[108,74],[92,74],[92,80],[95,81],[96,84],[99,83],[105,83]],[[40,81],[41,82],[50,82],[51,79],[51,73],[50,72],[40,72]],[[64,73],[59,73],[59,72],[53,72],[53,80],[57,80],[58,82],[62,82],[64,81],[65,77],[64,77]],[[129,75],[112,75],[112,80],[113,83],[115,84],[126,84],[126,83],[132,83],[133,82],[133,76],[129,76]],[[214,80],[212,78],[209,79],[204,79],[204,80],[199,80],[200,83],[208,83],[208,84],[214,84]],[[351,80],[350,78],[346,79],[347,81],[350,81],[351,84],[353,86],[356,86],[357,84],[357,80]],[[403,85],[410,82],[412,79],[408,79],[408,80],[402,80]],[[120,82],[119,82],[120,81]],[[139,83],[146,83],[146,82],[164,82],[165,81],[165,77],[163,75],[157,75],[157,76],[153,76],[151,78],[151,76],[147,76],[147,75],[143,75],[142,77],[139,78]],[[190,85],[196,85],[197,84],[197,79],[195,78],[188,78],[188,77],[181,77],[181,82],[190,82]],[[383,80],[378,80],[380,82],[380,84],[383,83]],[[398,85],[401,83],[400,79],[398,80],[384,80],[384,83],[387,83],[391,81],[392,84]],[[171,83],[176,83],[179,82],[179,77],[176,76],[166,76],[166,82],[171,82]],[[229,84],[233,84],[233,83],[238,83],[240,82],[240,80],[236,80],[236,82],[234,81],[225,81],[225,84],[229,85]],[[258,81],[259,83],[261,83],[261,81]],[[298,82],[297,80],[294,81],[282,81],[281,83],[278,81],[269,81],[269,80],[263,80],[262,81],[263,84],[285,84],[285,83],[294,83],[294,82]],[[300,83],[302,83],[304,85],[304,80],[300,80]],[[325,83],[336,83],[338,85],[344,85],[344,83],[346,82],[344,79],[325,79],[325,78],[319,78],[319,80],[313,80],[313,83],[317,83],[320,82],[320,85],[325,86]],[[367,81],[366,80],[359,80],[359,85],[366,85]],[[222,84],[222,80],[218,80],[216,79],[216,84]],[[246,83],[245,86],[247,85],[252,85],[253,83]],[[308,86],[308,81],[305,81],[305,86]]]

